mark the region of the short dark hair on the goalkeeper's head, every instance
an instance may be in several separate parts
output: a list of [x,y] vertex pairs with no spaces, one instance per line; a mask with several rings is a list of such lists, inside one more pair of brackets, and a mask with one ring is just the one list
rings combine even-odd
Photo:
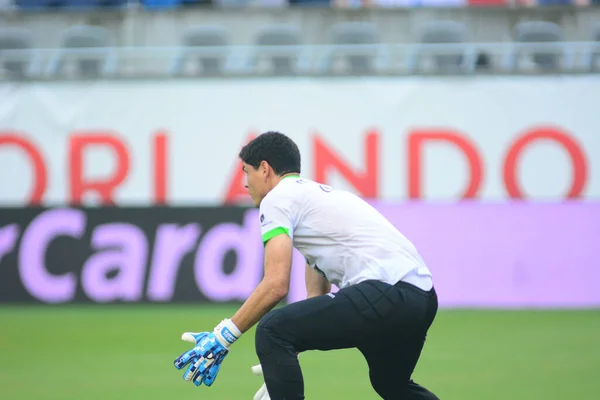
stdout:
[[255,169],[262,161],[269,163],[277,175],[300,173],[300,150],[292,139],[280,132],[265,132],[245,145],[239,154]]

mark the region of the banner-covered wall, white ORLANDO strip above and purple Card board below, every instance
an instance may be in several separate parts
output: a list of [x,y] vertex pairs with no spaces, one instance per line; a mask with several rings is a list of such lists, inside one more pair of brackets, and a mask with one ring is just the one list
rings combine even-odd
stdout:
[[[0,98],[0,302],[243,300],[262,244],[237,152],[277,129],[305,176],[415,243],[442,307],[600,306],[598,76],[6,83]],[[296,254],[288,301],[302,268]]]

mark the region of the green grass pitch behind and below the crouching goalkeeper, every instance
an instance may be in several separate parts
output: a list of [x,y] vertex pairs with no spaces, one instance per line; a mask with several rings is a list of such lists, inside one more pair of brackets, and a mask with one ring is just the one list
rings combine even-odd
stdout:
[[[250,400],[262,381],[251,331],[211,388],[172,361],[186,330],[211,329],[232,306],[0,307],[2,399]],[[377,399],[354,350],[301,357],[307,399]],[[442,400],[600,398],[600,310],[438,314],[415,380]]]

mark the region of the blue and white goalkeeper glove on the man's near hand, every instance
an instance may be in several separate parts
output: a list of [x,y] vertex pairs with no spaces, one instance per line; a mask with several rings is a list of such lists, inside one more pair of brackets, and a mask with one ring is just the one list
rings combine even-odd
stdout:
[[229,353],[229,346],[240,336],[242,332],[230,319],[221,321],[212,332],[185,332],[181,339],[194,344],[194,348],[175,359],[175,368],[188,366],[183,374],[184,380],[192,381],[196,386],[202,383],[211,386]]

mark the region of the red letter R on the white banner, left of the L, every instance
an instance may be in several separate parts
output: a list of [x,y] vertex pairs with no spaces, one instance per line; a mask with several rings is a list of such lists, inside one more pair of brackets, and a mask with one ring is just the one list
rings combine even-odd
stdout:
[[[100,195],[102,205],[114,205],[113,192],[129,172],[129,155],[125,144],[106,133],[90,133],[71,137],[69,146],[71,202],[81,204],[83,194],[94,191]],[[89,180],[83,177],[83,153],[93,146],[108,147],[115,154],[116,168],[112,177],[104,180]]]

